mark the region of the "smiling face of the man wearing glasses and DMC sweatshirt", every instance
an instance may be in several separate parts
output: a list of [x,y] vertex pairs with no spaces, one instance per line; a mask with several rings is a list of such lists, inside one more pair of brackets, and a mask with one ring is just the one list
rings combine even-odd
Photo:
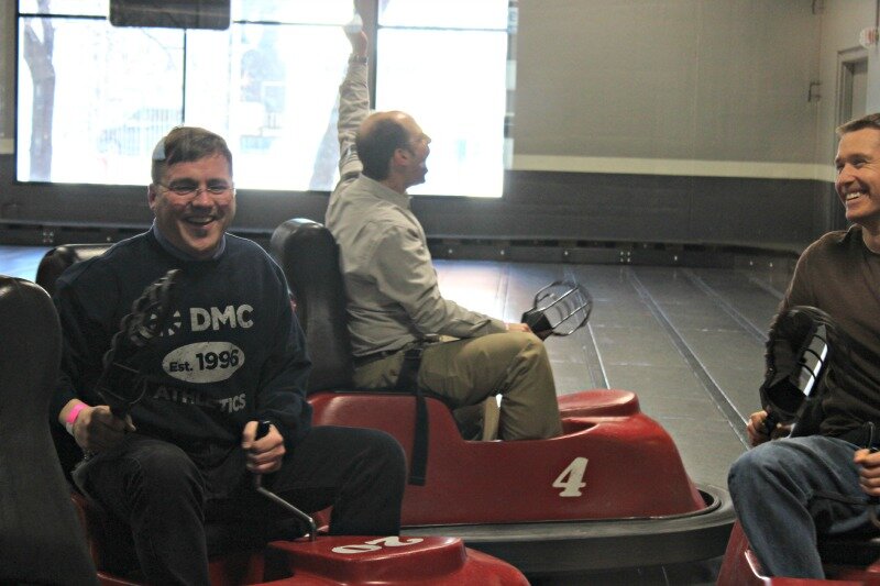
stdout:
[[156,226],[175,247],[210,258],[235,217],[235,190],[221,154],[170,165],[147,191]]

